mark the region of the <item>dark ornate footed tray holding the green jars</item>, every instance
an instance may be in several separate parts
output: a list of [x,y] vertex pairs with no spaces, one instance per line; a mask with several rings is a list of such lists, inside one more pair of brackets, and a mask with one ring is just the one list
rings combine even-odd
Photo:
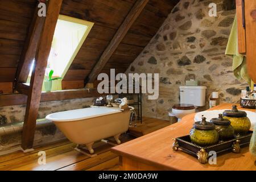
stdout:
[[205,147],[192,143],[189,135],[186,135],[184,137],[175,138],[172,149],[174,151],[178,151],[180,149],[181,151],[187,152],[188,154],[195,156],[201,164],[206,164],[210,157],[208,155],[210,151],[215,151],[216,154],[220,154],[225,151],[240,153],[240,147],[246,146],[250,143],[251,135],[253,135],[253,131],[248,131],[247,135],[237,136],[236,138],[220,141],[217,144]]

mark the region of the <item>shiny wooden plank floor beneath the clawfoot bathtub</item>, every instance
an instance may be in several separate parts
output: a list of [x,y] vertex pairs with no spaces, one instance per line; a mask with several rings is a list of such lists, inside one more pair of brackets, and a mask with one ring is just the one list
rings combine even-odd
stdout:
[[[141,133],[150,133],[167,126],[167,121],[159,119],[144,118],[143,124],[138,125],[138,131]],[[130,134],[121,136],[122,143],[134,139]],[[113,138],[109,138],[114,143]],[[77,152],[73,148],[76,144],[65,140],[63,142],[49,144],[48,146],[35,148],[34,151],[23,153],[17,151],[9,155],[0,156],[0,171],[7,170],[119,170],[119,158],[112,153],[113,147],[104,142],[94,144],[94,151],[97,156],[90,158]],[[46,152],[46,164],[39,165],[39,151]]]

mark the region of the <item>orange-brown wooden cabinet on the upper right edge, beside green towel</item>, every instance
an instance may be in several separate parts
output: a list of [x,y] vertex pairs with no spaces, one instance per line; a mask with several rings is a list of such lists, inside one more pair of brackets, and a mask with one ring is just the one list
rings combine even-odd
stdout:
[[247,70],[256,82],[256,0],[236,0],[238,51],[246,55]]

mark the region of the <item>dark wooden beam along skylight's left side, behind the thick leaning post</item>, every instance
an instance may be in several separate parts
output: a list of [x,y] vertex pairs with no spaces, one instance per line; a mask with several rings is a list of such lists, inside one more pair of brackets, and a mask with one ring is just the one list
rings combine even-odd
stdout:
[[35,8],[35,13],[30,24],[30,28],[27,34],[26,42],[24,44],[22,54],[20,56],[20,61],[18,64],[18,69],[16,71],[16,76],[14,79],[14,89],[18,89],[19,83],[27,82],[28,75],[30,73],[30,68],[32,61],[35,59],[36,48],[38,47],[38,42],[42,34],[43,25],[46,17],[38,16],[38,4]]

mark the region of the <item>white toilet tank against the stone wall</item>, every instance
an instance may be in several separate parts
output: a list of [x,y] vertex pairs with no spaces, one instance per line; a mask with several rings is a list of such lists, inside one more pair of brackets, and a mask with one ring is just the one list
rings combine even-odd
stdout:
[[206,86],[180,86],[180,104],[205,106]]

